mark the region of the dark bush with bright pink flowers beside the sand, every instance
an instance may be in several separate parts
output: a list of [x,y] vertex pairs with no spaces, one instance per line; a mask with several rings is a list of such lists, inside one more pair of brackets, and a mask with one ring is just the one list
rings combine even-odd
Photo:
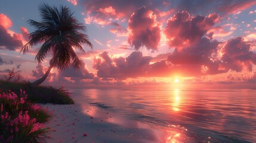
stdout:
[[25,91],[20,95],[7,91],[0,94],[0,142],[46,142],[50,117],[41,107],[27,101]]

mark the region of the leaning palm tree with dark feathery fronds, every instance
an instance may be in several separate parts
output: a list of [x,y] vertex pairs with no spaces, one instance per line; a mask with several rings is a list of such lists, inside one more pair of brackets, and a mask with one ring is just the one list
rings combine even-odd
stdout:
[[73,17],[70,9],[62,5],[50,7],[48,4],[39,5],[39,13],[42,21],[29,20],[30,26],[35,27],[35,32],[29,34],[29,42],[27,42],[20,52],[23,54],[29,51],[33,46],[42,43],[35,60],[41,64],[47,56],[48,52],[53,53],[50,60],[50,67],[41,79],[36,80],[32,85],[39,85],[47,78],[51,69],[57,67],[64,70],[70,65],[76,70],[81,66],[81,61],[76,55],[74,49],[85,52],[82,44],[93,47],[88,40],[88,36],[81,32],[86,32],[86,27]]

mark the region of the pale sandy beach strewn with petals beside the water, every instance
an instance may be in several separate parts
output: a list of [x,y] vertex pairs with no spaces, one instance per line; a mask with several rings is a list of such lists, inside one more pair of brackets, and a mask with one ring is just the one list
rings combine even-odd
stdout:
[[53,112],[45,126],[52,129],[48,143],[54,142],[164,142],[165,133],[135,120],[91,105],[53,105],[43,108]]

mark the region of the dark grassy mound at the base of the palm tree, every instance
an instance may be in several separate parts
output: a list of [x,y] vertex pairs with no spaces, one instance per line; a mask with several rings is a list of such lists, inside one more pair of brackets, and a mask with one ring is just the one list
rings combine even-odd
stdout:
[[63,88],[55,89],[52,86],[32,86],[29,82],[7,82],[0,80],[0,93],[13,91],[20,95],[20,89],[26,91],[30,102],[52,103],[52,104],[74,104],[70,93]]

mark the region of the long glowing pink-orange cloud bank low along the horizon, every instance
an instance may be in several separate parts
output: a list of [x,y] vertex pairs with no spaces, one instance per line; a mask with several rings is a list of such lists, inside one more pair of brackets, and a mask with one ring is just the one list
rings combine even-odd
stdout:
[[[143,56],[142,52],[132,52],[126,58],[113,58],[103,52],[94,58],[92,67],[97,70],[98,78],[110,82],[137,77],[170,77],[177,74],[181,77],[204,76],[230,70],[252,71],[252,65],[256,64],[256,54],[243,38],[230,39],[221,50],[219,44],[218,41],[201,38],[180,51],[176,49],[155,58]],[[218,52],[221,52],[221,57],[218,57]],[[227,79],[233,81],[233,76],[228,75]]]

